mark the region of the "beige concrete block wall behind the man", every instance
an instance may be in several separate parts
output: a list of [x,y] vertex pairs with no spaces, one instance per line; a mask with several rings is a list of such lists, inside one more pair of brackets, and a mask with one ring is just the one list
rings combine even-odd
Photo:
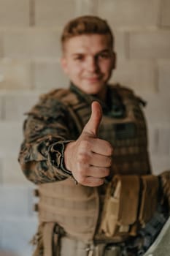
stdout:
[[[39,94],[66,87],[59,64],[63,24],[100,15],[115,31],[112,82],[147,100],[153,173],[170,169],[169,0],[0,0],[0,250],[30,256],[34,185],[18,165],[24,113]],[[1,252],[0,252],[1,255]]]

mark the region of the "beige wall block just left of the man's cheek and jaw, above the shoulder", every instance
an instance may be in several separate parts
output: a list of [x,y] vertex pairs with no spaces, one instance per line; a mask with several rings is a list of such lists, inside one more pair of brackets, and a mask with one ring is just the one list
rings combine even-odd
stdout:
[[69,79],[64,75],[58,61],[36,61],[34,84],[36,89],[66,88],[69,86]]

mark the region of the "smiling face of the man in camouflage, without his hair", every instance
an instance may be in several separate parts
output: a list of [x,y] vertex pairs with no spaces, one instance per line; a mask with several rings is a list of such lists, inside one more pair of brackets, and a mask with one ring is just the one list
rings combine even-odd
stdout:
[[106,35],[83,34],[66,41],[61,64],[75,86],[102,97],[115,67],[115,53]]

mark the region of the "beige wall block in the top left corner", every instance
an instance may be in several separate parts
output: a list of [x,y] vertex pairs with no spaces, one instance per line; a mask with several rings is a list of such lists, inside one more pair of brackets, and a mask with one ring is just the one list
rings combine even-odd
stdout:
[[0,0],[0,26],[28,26],[29,0]]

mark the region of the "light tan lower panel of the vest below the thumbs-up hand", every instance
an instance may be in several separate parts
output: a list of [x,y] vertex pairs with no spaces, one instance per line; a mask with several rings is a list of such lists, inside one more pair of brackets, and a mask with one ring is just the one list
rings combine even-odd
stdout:
[[39,186],[39,219],[57,222],[66,233],[92,241],[98,220],[98,193],[95,188],[74,184],[72,178]]

